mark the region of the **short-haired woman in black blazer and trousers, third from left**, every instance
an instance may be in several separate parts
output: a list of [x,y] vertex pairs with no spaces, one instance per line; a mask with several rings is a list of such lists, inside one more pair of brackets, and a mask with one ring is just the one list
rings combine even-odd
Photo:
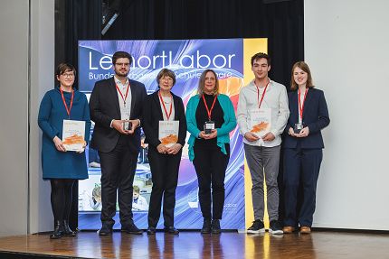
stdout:
[[[176,206],[176,187],[178,169],[181,162],[182,148],[186,137],[186,119],[183,100],[170,90],[176,83],[172,70],[162,69],[157,75],[159,89],[146,97],[143,106],[143,131],[148,143],[147,158],[153,180],[148,210],[147,235],[156,234],[156,227],[161,212],[162,196],[164,197],[164,231],[178,234],[174,227]],[[178,139],[167,147],[158,136],[159,121],[178,121]]]

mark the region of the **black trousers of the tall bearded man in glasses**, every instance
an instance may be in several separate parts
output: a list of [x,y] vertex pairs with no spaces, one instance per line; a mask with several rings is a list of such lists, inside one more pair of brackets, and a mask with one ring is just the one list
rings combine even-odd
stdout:
[[137,169],[138,153],[129,148],[127,136],[120,136],[109,153],[99,152],[101,165],[101,222],[113,226],[118,193],[121,225],[133,223],[132,184]]

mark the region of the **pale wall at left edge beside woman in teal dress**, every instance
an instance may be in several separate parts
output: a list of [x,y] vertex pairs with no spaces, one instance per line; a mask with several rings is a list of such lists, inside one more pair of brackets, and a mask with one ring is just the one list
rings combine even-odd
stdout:
[[11,236],[52,227],[36,117],[52,88],[54,0],[2,1],[0,35],[0,236]]

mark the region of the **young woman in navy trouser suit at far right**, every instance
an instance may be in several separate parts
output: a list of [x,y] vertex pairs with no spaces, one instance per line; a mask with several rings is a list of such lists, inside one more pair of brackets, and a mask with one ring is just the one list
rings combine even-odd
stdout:
[[[283,141],[285,188],[284,233],[300,226],[300,233],[310,233],[316,207],[318,171],[323,158],[321,129],[329,124],[326,98],[314,88],[308,65],[293,65],[289,92],[289,120]],[[298,200],[298,190],[303,190]],[[298,211],[298,203],[301,208]]]

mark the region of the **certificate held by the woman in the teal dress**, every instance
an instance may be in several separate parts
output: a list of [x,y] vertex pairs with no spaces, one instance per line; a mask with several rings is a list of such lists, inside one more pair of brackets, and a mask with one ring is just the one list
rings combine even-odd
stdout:
[[83,151],[85,143],[85,122],[63,120],[62,143],[66,151]]

